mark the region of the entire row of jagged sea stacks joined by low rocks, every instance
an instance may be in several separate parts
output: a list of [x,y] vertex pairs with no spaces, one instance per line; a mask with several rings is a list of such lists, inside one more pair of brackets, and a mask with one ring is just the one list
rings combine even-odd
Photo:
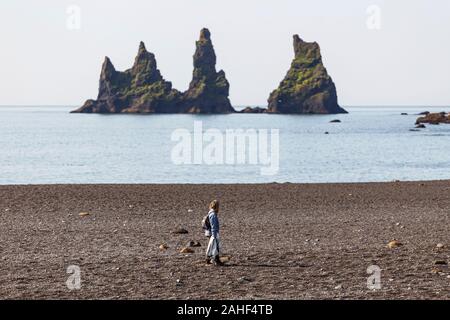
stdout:
[[[323,66],[319,45],[295,35],[294,52],[286,77],[270,94],[268,108],[246,108],[241,113],[347,113],[338,105],[336,87]],[[105,57],[97,99],[87,100],[72,113],[235,113],[229,89],[225,72],[216,71],[211,33],[204,28],[196,42],[194,71],[185,92],[162,77],[155,55],[141,42],[131,69],[117,71]]]

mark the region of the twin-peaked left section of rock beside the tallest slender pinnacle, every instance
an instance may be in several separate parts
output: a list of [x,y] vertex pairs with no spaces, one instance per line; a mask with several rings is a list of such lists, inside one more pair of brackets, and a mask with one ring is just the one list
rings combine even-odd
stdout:
[[88,100],[74,113],[173,113],[181,93],[172,89],[157,68],[155,55],[143,42],[131,69],[116,71],[108,57],[103,62],[97,100]]

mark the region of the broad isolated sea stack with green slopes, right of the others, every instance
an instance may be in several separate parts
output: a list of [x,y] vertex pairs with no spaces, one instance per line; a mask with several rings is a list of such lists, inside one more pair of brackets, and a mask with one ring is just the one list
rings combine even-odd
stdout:
[[323,66],[320,47],[294,35],[295,58],[269,97],[271,113],[347,113],[338,105],[336,87]]

